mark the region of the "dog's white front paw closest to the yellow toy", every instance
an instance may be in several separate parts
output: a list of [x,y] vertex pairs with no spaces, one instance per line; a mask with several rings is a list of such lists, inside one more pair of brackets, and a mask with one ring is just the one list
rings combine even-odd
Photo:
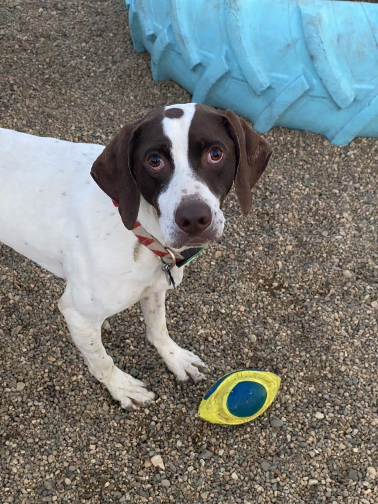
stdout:
[[209,368],[195,353],[180,348],[174,343],[162,357],[179,382],[197,383],[206,379]]

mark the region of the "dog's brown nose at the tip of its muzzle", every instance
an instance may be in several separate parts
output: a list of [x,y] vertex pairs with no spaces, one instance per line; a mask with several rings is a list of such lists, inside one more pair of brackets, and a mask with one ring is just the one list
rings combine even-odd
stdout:
[[174,220],[182,231],[196,236],[210,226],[211,209],[203,202],[181,203],[176,210]]

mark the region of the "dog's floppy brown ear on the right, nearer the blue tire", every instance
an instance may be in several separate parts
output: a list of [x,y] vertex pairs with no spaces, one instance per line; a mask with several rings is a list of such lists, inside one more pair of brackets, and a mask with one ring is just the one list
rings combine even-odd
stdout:
[[224,112],[228,119],[230,135],[235,144],[236,173],[235,191],[244,215],[252,205],[251,188],[265,170],[272,148],[249,124],[232,110]]

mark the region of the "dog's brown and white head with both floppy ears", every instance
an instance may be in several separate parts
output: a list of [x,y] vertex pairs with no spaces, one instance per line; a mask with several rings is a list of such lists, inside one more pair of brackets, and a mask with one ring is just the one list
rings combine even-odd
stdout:
[[223,232],[222,203],[235,184],[244,214],[250,190],[272,149],[231,110],[187,103],[127,124],[106,146],[91,175],[132,229],[141,197],[156,210],[164,244],[204,245]]

